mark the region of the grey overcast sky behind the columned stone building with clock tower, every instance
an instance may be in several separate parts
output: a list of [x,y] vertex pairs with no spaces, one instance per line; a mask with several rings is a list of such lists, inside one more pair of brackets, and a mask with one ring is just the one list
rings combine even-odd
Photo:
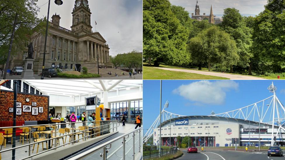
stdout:
[[[47,15],[47,2],[48,0],[37,2],[41,6],[39,18]],[[51,1],[50,21],[53,14],[59,14],[60,26],[71,30],[74,4],[75,0],[63,0],[63,4],[57,6]],[[142,0],[89,0],[89,8],[93,32],[96,21],[96,30],[109,44],[110,55],[133,50],[142,52]]]

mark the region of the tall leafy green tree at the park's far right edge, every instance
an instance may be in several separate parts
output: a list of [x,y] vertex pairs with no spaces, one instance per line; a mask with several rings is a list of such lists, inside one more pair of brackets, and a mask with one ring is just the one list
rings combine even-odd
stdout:
[[284,0],[268,0],[255,19],[252,47],[261,74],[285,71],[284,8]]

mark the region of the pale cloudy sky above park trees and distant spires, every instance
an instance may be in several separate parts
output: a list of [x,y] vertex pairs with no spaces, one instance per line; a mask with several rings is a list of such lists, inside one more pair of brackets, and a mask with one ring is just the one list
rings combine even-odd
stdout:
[[[197,0],[169,0],[171,4],[183,6],[191,15],[195,14]],[[267,0],[198,0],[200,15],[206,13],[210,15],[211,5],[213,6],[214,15],[222,15],[225,8],[236,8],[241,14],[258,15],[264,10]]]

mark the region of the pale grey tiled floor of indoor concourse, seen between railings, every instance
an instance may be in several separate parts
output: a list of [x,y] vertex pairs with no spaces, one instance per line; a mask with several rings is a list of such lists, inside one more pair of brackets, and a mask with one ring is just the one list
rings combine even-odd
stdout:
[[[78,127],[78,126],[82,126],[82,124],[80,124],[80,123],[76,124],[76,127]],[[69,128],[69,127],[71,127],[71,126],[67,126],[67,127]],[[114,136],[111,136],[110,138],[101,141],[100,143],[96,144],[95,146],[97,146],[97,145],[99,145],[99,144],[102,144],[102,143],[105,143],[105,142],[107,142],[108,140],[114,139],[114,138],[116,138],[116,137],[118,137],[118,136],[121,136],[121,135],[123,135],[124,133],[130,132],[130,131],[132,131],[132,130],[134,129],[134,127],[135,127],[135,124],[126,124],[126,126],[122,126],[122,124],[120,124],[120,126],[118,126],[118,128],[117,128],[117,131],[119,131],[118,134],[115,134]],[[112,128],[112,125],[111,125],[111,128]],[[114,129],[114,131],[116,131],[116,129]],[[112,129],[111,129],[111,132],[113,132]],[[81,136],[80,136],[80,137],[81,137]],[[130,138],[132,138],[132,137],[130,136]],[[138,137],[136,136],[136,138],[138,138]],[[68,141],[68,139],[69,139],[69,137],[67,137],[67,141]],[[141,140],[142,140],[142,137],[141,137]],[[10,141],[11,141],[11,140],[9,139],[8,142],[10,142]],[[122,140],[118,140],[118,141],[115,142],[114,144],[112,143],[112,148],[110,149],[110,151],[116,149],[116,146],[118,146],[119,144],[121,144],[121,141],[122,141]],[[137,140],[136,140],[136,141],[137,141]],[[24,145],[25,145],[25,144],[27,144],[27,141],[26,141],[26,140],[25,140],[25,142],[24,142]],[[62,141],[61,141],[61,140],[60,140],[60,144],[62,144]],[[131,140],[128,144],[129,144],[129,145],[132,145],[132,140]],[[142,143],[141,143],[141,144],[142,144]],[[20,142],[18,142],[18,140],[16,140],[16,147],[21,146],[21,145],[22,145],[22,143],[20,143]],[[46,148],[45,146],[46,146],[46,144],[44,143],[44,148]],[[95,147],[95,146],[94,146],[94,147]],[[65,147],[68,147],[68,145],[66,145]],[[128,151],[128,148],[130,148],[130,147],[131,147],[131,146],[126,145],[126,152]],[[4,146],[2,147],[2,151],[3,151],[3,150],[6,150],[6,149],[10,149],[10,148],[12,148],[11,143],[7,143],[7,144],[6,144],[6,148],[4,148]],[[21,148],[19,148],[19,149],[16,149],[16,150],[15,150],[15,159],[22,159],[22,158],[24,158],[24,157],[28,157],[28,156],[29,156],[28,152],[25,152],[25,151],[28,151],[28,148],[29,148],[29,147],[27,146],[27,147],[21,147]],[[91,148],[92,148],[92,147],[91,147]],[[31,148],[31,149],[32,149],[32,148]],[[138,149],[136,149],[136,150],[138,150]],[[41,151],[42,151],[42,145],[41,145],[41,143],[40,143],[40,145],[39,145],[39,152],[41,152]],[[31,155],[36,154],[36,152],[37,152],[37,144],[35,145],[34,153],[31,152]],[[49,152],[52,152],[52,151],[49,151]],[[96,155],[96,157],[98,157],[98,159],[101,158],[101,157],[100,157],[100,152],[102,152],[102,151],[98,151],[98,152],[94,153],[93,155],[91,155],[91,157],[94,158],[94,156]],[[118,151],[117,153],[122,153],[122,150],[120,149],[120,151]],[[128,155],[131,156],[131,155],[132,155],[132,151],[131,151]],[[1,156],[2,156],[2,160],[10,160],[11,157],[12,157],[12,150],[1,153]],[[120,154],[119,154],[119,156],[120,156]],[[117,158],[116,155],[112,156],[112,158],[113,158],[113,157],[116,157],[116,158]],[[116,159],[116,158],[114,158],[114,159]],[[90,158],[90,159],[91,159],[91,158]]]

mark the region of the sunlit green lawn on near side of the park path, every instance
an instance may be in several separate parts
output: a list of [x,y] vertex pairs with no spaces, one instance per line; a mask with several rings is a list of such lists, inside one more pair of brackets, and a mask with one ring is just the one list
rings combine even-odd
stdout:
[[144,80],[228,80],[229,78],[179,71],[167,71],[151,66],[143,66]]

